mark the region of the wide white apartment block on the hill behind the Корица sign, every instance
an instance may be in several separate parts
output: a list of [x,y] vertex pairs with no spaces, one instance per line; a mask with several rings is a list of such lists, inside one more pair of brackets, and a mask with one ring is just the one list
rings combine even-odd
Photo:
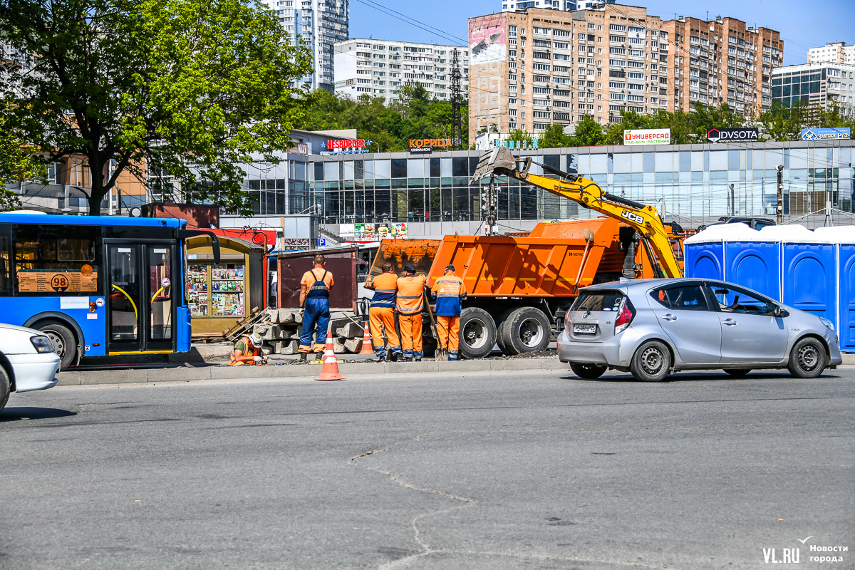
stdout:
[[421,84],[432,97],[451,101],[451,71],[457,52],[460,90],[469,98],[469,48],[353,38],[334,45],[335,93],[385,97],[399,103],[402,85]]

